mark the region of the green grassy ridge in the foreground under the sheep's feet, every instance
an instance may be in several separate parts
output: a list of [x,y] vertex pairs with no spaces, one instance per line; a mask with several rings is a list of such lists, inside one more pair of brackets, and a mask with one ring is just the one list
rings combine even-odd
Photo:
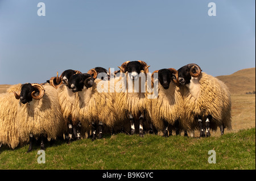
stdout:
[[[37,162],[39,145],[31,153],[28,145],[2,148],[0,169],[255,169],[255,128],[210,138],[117,134],[47,146],[45,164]],[[209,150],[216,164],[208,163]]]

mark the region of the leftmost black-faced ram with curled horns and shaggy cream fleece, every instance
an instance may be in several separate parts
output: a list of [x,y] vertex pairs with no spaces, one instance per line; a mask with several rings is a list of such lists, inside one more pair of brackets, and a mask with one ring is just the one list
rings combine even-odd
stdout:
[[45,150],[43,138],[56,140],[64,127],[56,89],[48,83],[25,83],[20,92],[13,93],[15,98],[20,100],[16,114],[20,140],[23,142],[30,138],[27,150],[30,152],[34,137],[41,137],[40,149]]

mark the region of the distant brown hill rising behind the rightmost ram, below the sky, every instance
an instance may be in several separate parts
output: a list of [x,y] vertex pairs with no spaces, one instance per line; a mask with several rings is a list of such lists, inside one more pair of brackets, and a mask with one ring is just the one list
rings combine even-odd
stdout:
[[238,70],[233,74],[221,75],[216,78],[225,82],[231,94],[255,91],[255,68]]

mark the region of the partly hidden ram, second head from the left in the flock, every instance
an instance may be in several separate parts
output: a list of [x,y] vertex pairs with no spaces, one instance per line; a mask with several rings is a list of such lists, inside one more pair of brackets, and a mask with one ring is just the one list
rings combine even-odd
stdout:
[[[81,138],[81,123],[77,118],[78,113],[75,107],[77,94],[71,91],[68,83],[69,78],[73,74],[81,74],[81,71],[68,69],[63,71],[60,77],[57,73],[57,77],[52,77],[48,81],[58,92],[63,119],[65,124],[68,125],[65,129],[65,132],[68,132],[68,144],[73,140],[80,140]],[[86,130],[87,128],[84,126],[82,129]]]

